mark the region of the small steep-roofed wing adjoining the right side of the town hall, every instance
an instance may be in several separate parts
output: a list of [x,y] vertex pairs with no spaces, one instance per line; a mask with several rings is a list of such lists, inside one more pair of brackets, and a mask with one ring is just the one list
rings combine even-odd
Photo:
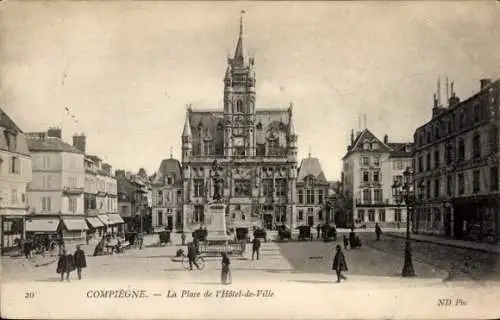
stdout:
[[326,199],[329,183],[318,158],[309,154],[301,161],[297,175],[297,224],[316,226],[332,222]]

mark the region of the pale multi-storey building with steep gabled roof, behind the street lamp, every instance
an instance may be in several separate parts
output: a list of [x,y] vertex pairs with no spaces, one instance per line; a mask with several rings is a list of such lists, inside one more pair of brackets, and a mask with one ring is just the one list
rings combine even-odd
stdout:
[[412,165],[412,143],[390,143],[387,135],[379,140],[368,129],[352,133],[342,170],[347,225],[401,227],[407,210],[393,199],[392,185]]

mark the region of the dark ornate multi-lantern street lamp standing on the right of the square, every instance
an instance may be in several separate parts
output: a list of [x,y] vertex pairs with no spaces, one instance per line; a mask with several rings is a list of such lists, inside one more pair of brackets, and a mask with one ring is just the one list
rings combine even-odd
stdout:
[[[410,238],[410,210],[415,209],[416,194],[413,187],[413,168],[407,167],[403,172],[402,183],[394,182],[392,185],[392,195],[398,206],[406,206],[406,244],[405,244],[405,260],[403,265],[403,277],[415,276],[413,269],[413,261],[411,254],[411,238]],[[420,188],[419,188],[420,190]]]

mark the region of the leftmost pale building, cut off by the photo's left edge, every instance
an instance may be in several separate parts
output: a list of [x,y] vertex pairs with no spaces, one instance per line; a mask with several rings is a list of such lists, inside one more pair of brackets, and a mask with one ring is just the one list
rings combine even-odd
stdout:
[[0,108],[0,236],[1,252],[24,239],[28,214],[26,188],[31,182],[31,156],[23,131]]

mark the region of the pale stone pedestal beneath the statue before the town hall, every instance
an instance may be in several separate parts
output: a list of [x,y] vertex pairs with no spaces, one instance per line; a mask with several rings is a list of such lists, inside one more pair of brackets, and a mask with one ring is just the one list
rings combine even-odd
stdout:
[[225,204],[210,203],[205,206],[205,226],[208,242],[226,243],[229,240],[226,229]]

